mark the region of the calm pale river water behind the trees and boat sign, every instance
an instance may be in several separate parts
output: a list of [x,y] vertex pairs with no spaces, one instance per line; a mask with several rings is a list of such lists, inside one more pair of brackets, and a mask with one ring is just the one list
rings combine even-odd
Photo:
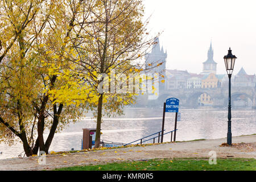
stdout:
[[[228,126],[228,109],[180,109],[181,121],[177,122],[176,140],[225,138]],[[103,140],[129,143],[162,129],[163,109],[127,108],[119,118],[105,118],[102,123]],[[166,113],[166,131],[174,130],[175,113]],[[55,134],[50,151],[80,150],[82,129],[96,127],[90,115],[69,125],[62,133]],[[232,109],[232,135],[256,133],[256,110]],[[164,142],[170,141],[164,135]],[[0,143],[0,159],[16,158],[23,152],[22,144],[6,146]],[[23,155],[22,155],[23,156]]]

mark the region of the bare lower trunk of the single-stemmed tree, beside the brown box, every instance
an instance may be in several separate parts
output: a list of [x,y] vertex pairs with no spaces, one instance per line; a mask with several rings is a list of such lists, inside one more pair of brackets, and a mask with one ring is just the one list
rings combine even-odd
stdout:
[[95,148],[100,147],[101,141],[101,117],[102,117],[102,98],[103,93],[100,98],[98,98],[98,114],[97,114],[97,127],[96,127],[96,137],[95,137]]

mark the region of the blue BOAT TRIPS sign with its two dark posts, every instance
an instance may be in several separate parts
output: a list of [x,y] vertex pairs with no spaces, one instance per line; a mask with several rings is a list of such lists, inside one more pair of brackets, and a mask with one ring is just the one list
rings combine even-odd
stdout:
[[163,143],[163,130],[164,130],[164,117],[165,113],[176,113],[175,114],[175,125],[174,125],[174,142],[176,140],[176,129],[177,129],[177,114],[179,113],[179,100],[177,98],[168,98],[166,102],[164,102],[163,107],[163,122],[162,122],[162,137],[161,143]]

